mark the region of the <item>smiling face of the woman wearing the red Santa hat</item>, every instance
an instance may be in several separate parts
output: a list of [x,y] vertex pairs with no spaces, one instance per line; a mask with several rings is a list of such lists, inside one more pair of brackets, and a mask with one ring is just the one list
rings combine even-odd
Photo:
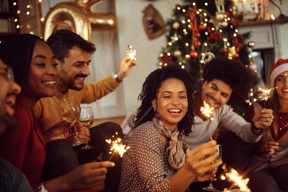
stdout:
[[[279,99],[288,99],[288,70],[280,73],[275,79],[275,89]],[[274,91],[275,91],[274,90]]]

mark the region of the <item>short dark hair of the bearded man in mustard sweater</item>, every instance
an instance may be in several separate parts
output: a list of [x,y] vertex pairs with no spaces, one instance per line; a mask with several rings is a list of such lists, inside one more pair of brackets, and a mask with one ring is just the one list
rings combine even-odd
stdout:
[[69,50],[73,46],[79,47],[79,49],[88,52],[90,55],[96,51],[94,44],[68,29],[58,29],[49,36],[46,43],[61,63],[64,63],[64,58],[69,57]]

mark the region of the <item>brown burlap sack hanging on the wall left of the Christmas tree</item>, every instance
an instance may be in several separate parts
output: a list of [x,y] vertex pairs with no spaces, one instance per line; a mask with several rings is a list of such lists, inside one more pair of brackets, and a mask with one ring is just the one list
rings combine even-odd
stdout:
[[155,39],[166,32],[164,20],[152,4],[145,7],[142,12],[143,26],[149,39]]

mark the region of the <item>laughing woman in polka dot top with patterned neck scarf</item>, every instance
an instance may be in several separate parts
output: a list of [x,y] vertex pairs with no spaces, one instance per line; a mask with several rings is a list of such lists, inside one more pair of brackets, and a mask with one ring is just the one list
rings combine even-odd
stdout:
[[211,164],[219,155],[216,141],[190,151],[181,141],[195,116],[194,85],[193,76],[175,66],[157,69],[146,78],[138,97],[140,122],[122,160],[119,191],[189,191],[191,182],[209,180],[211,170],[222,164]]

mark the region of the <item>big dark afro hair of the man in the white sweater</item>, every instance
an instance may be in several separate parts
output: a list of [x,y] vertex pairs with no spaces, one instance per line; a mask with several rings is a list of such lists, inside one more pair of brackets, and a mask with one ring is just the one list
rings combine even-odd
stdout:
[[229,103],[243,101],[247,98],[253,79],[253,73],[238,59],[229,60],[226,57],[216,56],[207,62],[203,68],[204,81],[221,80],[229,85],[232,94]]

